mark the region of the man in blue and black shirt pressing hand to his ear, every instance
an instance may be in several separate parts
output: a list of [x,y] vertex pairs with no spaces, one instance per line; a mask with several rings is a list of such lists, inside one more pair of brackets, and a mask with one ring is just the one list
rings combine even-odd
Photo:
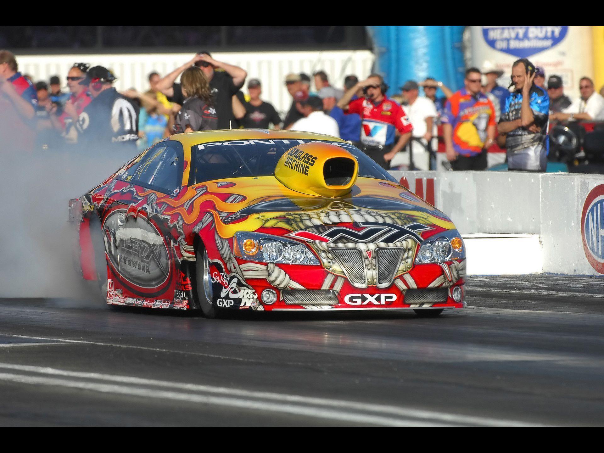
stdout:
[[498,125],[506,134],[507,168],[525,172],[545,172],[547,168],[547,123],[550,98],[533,82],[535,66],[527,59],[512,65],[514,91],[506,99]]

